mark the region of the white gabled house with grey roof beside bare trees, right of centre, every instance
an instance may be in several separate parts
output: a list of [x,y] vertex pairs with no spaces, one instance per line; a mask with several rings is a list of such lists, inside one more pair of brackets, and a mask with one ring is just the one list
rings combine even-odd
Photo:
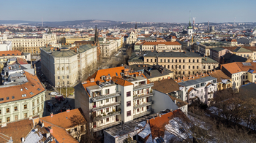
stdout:
[[188,80],[178,79],[178,85],[181,86],[182,91],[179,97],[182,101],[187,101],[191,104],[192,101],[200,100],[204,104],[210,104],[211,99],[214,98],[214,92],[217,91],[217,78],[215,77],[201,77],[196,75],[195,77],[190,77]]

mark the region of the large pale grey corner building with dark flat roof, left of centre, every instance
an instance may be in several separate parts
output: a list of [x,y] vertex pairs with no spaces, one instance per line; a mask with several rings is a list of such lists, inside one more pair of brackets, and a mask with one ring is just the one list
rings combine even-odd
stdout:
[[83,70],[97,63],[98,46],[80,45],[41,48],[42,73],[55,86],[72,86],[83,77]]

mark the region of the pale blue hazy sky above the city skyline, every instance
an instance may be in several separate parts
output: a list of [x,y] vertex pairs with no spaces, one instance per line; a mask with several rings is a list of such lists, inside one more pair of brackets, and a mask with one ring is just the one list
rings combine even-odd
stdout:
[[255,22],[256,0],[1,0],[0,20]]

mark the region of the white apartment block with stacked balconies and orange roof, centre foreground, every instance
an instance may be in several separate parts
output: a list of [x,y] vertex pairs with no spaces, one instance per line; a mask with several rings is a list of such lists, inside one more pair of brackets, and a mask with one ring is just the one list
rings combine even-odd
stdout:
[[75,107],[83,109],[98,136],[105,128],[151,114],[153,85],[123,66],[101,69],[75,86]]

